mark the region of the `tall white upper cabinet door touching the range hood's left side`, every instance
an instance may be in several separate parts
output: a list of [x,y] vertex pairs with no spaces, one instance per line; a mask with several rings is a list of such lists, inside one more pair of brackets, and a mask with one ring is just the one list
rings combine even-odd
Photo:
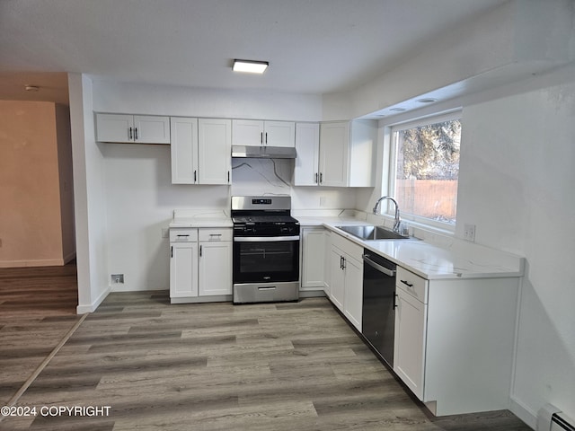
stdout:
[[198,120],[200,184],[229,184],[232,172],[232,121]]

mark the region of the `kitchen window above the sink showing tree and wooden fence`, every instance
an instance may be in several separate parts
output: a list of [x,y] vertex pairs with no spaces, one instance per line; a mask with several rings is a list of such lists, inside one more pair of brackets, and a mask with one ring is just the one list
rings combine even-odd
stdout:
[[461,144],[461,112],[391,128],[389,191],[403,220],[453,230]]

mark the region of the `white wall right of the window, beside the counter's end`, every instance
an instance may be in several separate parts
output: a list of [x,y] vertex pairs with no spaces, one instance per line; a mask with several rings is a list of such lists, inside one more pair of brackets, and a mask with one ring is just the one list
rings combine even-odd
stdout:
[[464,107],[457,233],[526,257],[512,398],[534,426],[546,402],[575,417],[575,66],[513,89]]

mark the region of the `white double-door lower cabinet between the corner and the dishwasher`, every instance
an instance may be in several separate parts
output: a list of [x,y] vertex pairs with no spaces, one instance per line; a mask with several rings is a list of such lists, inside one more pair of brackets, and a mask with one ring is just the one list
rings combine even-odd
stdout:
[[363,303],[363,248],[332,234],[330,250],[330,299],[343,315],[361,331]]

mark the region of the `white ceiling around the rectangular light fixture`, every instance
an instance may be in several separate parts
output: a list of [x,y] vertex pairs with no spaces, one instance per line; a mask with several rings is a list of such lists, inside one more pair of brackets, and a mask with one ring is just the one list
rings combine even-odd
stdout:
[[[506,1],[1,0],[0,98],[17,99],[23,84],[42,86],[42,75],[24,72],[344,92]],[[270,67],[261,76],[238,75],[230,67],[234,58]],[[66,87],[65,75],[44,78]]]

